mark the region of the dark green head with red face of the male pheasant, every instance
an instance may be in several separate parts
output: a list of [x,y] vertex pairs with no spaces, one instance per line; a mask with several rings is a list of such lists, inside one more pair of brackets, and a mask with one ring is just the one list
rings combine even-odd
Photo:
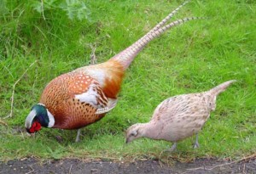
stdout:
[[55,119],[44,104],[35,104],[26,117],[25,127],[27,132],[34,133],[40,131],[41,126],[52,127],[54,124]]

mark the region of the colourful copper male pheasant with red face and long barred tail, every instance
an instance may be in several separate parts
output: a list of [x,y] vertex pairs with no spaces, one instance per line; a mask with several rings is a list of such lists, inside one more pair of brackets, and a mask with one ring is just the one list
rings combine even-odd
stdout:
[[[89,65],[56,77],[44,88],[38,104],[26,117],[26,130],[38,132],[41,126],[60,129],[79,129],[102,119],[117,103],[125,70],[132,60],[151,40],[172,26],[183,24],[191,17],[166,24],[183,3],[151,31],[130,47],[107,62]],[[76,141],[79,141],[79,133]]]

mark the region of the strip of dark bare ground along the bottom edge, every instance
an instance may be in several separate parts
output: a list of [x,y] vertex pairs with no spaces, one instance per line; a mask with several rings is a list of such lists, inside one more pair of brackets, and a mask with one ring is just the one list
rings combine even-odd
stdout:
[[72,174],[100,174],[100,173],[256,173],[256,159],[223,161],[213,159],[197,159],[190,163],[175,162],[173,166],[160,164],[157,160],[135,161],[130,163],[112,161],[83,160],[10,160],[0,162],[0,173],[72,173]]

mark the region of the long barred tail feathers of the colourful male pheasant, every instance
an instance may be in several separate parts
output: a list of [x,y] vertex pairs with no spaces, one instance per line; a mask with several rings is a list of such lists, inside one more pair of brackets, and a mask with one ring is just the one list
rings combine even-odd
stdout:
[[160,36],[160,34],[172,28],[173,26],[181,25],[189,20],[204,19],[201,17],[189,17],[183,18],[182,20],[175,20],[172,23],[165,25],[166,22],[170,20],[172,16],[176,14],[177,11],[182,8],[186,3],[189,3],[189,1],[181,4],[175,10],[173,10],[171,14],[168,14],[164,20],[160,21],[159,24],[155,25],[151,31],[148,31],[146,35],[141,37],[137,42],[134,42],[130,47],[113,56],[113,58],[110,60],[117,60],[121,65],[123,65],[124,69],[126,70],[131,64],[132,60],[137,56],[137,53],[139,53],[148,44],[148,42],[152,41],[155,37]]

